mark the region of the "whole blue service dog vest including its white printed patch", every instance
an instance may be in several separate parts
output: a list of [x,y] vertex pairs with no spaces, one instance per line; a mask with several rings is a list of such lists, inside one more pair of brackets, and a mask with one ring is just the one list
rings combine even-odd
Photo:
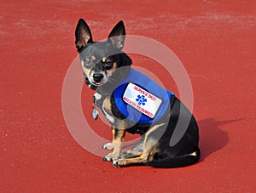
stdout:
[[111,99],[115,110],[131,122],[153,123],[169,111],[172,92],[161,88],[143,73],[131,68],[130,74],[119,82]]

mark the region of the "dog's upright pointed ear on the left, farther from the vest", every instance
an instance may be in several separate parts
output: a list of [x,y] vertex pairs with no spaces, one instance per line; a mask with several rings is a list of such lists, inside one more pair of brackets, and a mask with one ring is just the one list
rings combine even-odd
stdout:
[[88,43],[92,43],[92,37],[89,26],[83,19],[79,20],[78,26],[75,31],[76,36],[76,48],[80,51]]

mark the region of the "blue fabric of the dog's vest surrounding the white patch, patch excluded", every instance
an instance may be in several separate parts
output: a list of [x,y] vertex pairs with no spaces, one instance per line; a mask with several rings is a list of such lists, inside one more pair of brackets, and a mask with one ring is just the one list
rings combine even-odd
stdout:
[[[125,103],[125,101],[123,100],[123,94],[125,92],[125,89],[127,88],[127,85],[130,82],[148,91],[148,93],[154,94],[158,98],[162,99],[160,108],[156,112],[154,118],[144,115],[141,111],[138,111],[131,105]],[[131,122],[137,123],[153,123],[159,120],[166,113],[166,110],[170,105],[172,95],[175,94],[166,90],[165,88],[160,87],[160,85],[151,80],[149,77],[132,68],[130,74],[122,82],[120,82],[119,86],[116,87],[113,91],[114,103],[118,108],[119,112],[121,112],[121,114],[125,116],[125,118],[129,119]]]

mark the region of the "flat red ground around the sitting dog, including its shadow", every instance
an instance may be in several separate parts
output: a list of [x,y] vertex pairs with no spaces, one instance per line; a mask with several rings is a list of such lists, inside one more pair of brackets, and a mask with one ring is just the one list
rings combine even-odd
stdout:
[[[127,2],[0,3],[0,192],[255,192],[256,3]],[[95,39],[124,20],[128,34],[151,37],[177,54],[194,90],[201,162],[114,168],[77,144],[62,116],[61,87],[77,56],[80,17]],[[131,57],[176,89],[154,65]],[[84,97],[82,104],[91,108]],[[90,122],[110,139],[100,121]]]

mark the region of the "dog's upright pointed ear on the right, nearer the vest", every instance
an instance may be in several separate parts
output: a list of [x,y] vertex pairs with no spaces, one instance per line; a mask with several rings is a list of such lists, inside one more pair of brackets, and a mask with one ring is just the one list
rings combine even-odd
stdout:
[[108,36],[108,41],[110,41],[114,47],[121,50],[125,45],[125,25],[122,20],[113,27],[113,30]]

